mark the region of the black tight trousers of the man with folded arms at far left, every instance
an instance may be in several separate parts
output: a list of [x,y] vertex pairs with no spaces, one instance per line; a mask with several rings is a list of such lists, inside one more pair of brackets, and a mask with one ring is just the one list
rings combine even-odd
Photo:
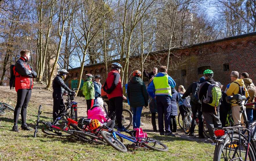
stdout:
[[17,104],[14,110],[14,123],[18,123],[21,110],[21,123],[26,124],[27,107],[31,97],[32,89],[19,89],[17,91]]

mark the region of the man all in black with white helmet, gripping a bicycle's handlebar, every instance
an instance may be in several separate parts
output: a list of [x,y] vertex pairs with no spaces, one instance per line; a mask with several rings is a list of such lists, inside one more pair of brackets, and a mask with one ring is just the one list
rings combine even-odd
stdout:
[[64,99],[62,96],[68,95],[68,92],[75,95],[75,91],[69,89],[64,82],[67,74],[68,71],[66,69],[60,69],[53,79],[53,121],[57,119],[58,114],[61,114],[65,110]]

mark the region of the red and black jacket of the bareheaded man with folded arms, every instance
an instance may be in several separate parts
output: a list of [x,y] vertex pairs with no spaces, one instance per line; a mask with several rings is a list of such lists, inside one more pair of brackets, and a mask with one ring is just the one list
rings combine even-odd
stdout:
[[[31,70],[31,73],[28,71]],[[27,60],[20,57],[13,67],[13,72],[15,74],[15,90],[19,89],[32,89],[33,79],[37,77],[37,73],[31,68]]]

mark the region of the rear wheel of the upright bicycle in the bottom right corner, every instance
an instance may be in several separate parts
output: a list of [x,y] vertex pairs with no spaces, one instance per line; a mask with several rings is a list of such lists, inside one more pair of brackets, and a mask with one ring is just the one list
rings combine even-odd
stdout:
[[[214,161],[231,161],[231,160],[244,160],[246,149],[245,142],[247,140],[241,137],[241,143],[239,144],[239,136],[238,134],[233,134],[233,140],[229,138],[228,135],[225,136],[223,141],[217,143],[214,150]],[[250,144],[248,149],[248,157],[247,160],[255,161],[253,146]]]

